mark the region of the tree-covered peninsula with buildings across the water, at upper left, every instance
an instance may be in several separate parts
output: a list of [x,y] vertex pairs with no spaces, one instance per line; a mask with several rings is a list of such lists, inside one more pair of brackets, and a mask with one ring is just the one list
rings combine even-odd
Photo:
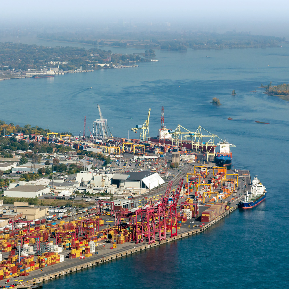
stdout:
[[[154,51],[147,50],[145,57],[138,54],[113,53],[92,47],[87,50],[79,47],[45,47],[22,43],[0,42],[0,70],[40,69],[58,67],[60,70],[99,69],[104,66],[127,65],[131,62],[150,61],[147,57],[154,56]],[[98,65],[102,64],[102,66]]]

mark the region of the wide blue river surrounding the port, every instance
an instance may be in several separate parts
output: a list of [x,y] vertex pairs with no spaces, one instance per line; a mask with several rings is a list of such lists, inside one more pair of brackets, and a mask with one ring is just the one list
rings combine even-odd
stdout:
[[[232,165],[264,181],[266,201],[253,210],[234,211],[198,236],[45,283],[44,288],[287,287],[289,102],[257,87],[288,83],[289,47],[156,54],[160,62],[138,68],[2,81],[0,119],[49,125],[52,131],[71,129],[78,135],[84,116],[92,129],[99,104],[114,136],[127,137],[151,108],[150,134],[156,136],[164,106],[166,127],[181,124],[195,131],[201,125],[234,143]],[[213,106],[213,97],[223,105]],[[129,131],[129,136],[137,135]]]

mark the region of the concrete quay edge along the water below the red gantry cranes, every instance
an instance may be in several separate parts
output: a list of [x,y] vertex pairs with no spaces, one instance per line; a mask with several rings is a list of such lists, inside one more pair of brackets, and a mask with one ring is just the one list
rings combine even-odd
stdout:
[[[188,229],[188,228],[181,227],[181,229],[178,230],[177,236],[167,237],[165,240],[162,240],[162,241],[156,241],[155,243],[152,243],[152,244],[147,244],[145,242],[135,244],[135,243],[130,242],[130,243],[127,243],[127,245],[125,246],[127,248],[113,249],[113,251],[111,251],[112,254],[105,254],[105,256],[103,256],[101,258],[99,258],[98,255],[92,255],[92,257],[88,257],[90,259],[88,262],[87,262],[87,259],[75,259],[75,260],[73,260],[73,261],[75,261],[74,266],[71,266],[72,264],[65,264],[67,262],[59,263],[59,264],[57,264],[59,267],[59,270],[57,270],[58,268],[55,268],[55,265],[53,266],[54,268],[51,268],[51,270],[49,270],[49,268],[45,267],[45,269],[48,269],[51,272],[50,273],[47,272],[48,274],[45,274],[45,276],[44,276],[43,273],[45,273],[45,272],[41,272],[41,274],[39,274],[40,272],[38,271],[37,274],[35,274],[35,275],[32,274],[32,276],[26,277],[27,279],[33,277],[34,279],[29,279],[29,280],[25,281],[26,278],[22,277],[23,282],[25,282],[25,285],[33,285],[33,284],[45,282],[45,281],[48,281],[48,280],[51,280],[51,279],[54,279],[54,278],[57,278],[60,276],[71,274],[73,272],[81,271],[85,268],[98,266],[98,265],[106,263],[106,262],[111,262],[112,260],[115,260],[117,258],[125,257],[125,256],[131,255],[133,253],[138,253],[138,252],[141,252],[143,250],[151,249],[151,248],[160,246],[162,244],[166,244],[168,242],[173,242],[173,241],[179,240],[181,238],[185,238],[185,237],[189,237],[189,236],[201,233],[202,231],[205,231],[206,229],[211,227],[214,223],[220,221],[222,218],[224,218],[225,216],[227,216],[228,214],[230,214],[231,212],[233,212],[236,209],[237,209],[237,205],[234,205],[228,211],[223,213],[221,216],[219,216],[218,218],[216,218],[212,222],[210,222],[210,223],[208,223],[208,224],[206,224],[203,227],[198,228],[198,229]],[[110,252],[107,252],[107,253],[110,253]]]

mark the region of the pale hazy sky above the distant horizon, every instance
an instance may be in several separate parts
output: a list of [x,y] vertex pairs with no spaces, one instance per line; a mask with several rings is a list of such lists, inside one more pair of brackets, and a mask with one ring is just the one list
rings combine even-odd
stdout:
[[[288,1],[286,0],[12,0],[1,1],[1,24],[13,25],[16,21],[43,25],[85,21],[152,21],[188,23],[207,27],[234,28],[254,34],[281,36],[288,27]],[[5,26],[4,24],[4,26]],[[3,27],[3,26],[2,26]],[[185,27],[184,27],[185,28]],[[268,29],[268,30],[267,30]],[[260,32],[258,32],[260,31]],[[288,32],[286,32],[288,34]]]

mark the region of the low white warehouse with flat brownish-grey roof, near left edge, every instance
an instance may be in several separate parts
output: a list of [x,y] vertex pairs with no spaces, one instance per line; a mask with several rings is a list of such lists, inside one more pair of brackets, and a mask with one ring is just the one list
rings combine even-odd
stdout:
[[28,185],[25,181],[20,181],[19,184],[10,183],[8,190],[4,192],[4,196],[15,198],[36,198],[43,194],[48,194],[49,192],[49,187]]

